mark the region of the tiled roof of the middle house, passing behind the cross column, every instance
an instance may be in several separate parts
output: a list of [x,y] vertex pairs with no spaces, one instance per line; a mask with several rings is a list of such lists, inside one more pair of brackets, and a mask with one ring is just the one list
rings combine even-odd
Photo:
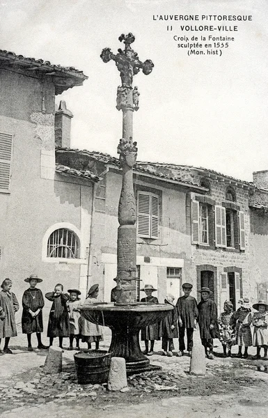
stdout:
[[[80,155],[87,155],[90,158],[93,158],[93,160],[97,160],[100,162],[104,162],[104,164],[112,164],[116,167],[120,167],[119,159],[116,157],[112,157],[109,154],[106,153],[100,153],[99,151],[89,151],[89,150],[79,150],[74,148],[61,148],[56,147],[56,153],[73,153],[73,154],[80,154]],[[154,164],[154,163],[150,163]],[[175,183],[183,183],[184,185],[188,186],[194,186],[200,188],[200,186],[197,183],[191,182],[190,180],[185,180],[184,178],[180,178],[180,176],[171,176],[170,174],[166,173],[158,173],[157,171],[154,171],[153,169],[150,169],[148,167],[143,167],[140,162],[137,162],[134,166],[134,171],[150,174],[150,176],[155,176],[159,179],[164,180],[171,180]]]

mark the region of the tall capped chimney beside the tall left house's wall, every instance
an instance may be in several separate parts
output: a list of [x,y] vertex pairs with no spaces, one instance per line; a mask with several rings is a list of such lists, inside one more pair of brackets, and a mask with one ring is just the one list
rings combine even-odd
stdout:
[[55,143],[56,146],[70,148],[72,112],[67,109],[66,102],[61,100],[55,112]]

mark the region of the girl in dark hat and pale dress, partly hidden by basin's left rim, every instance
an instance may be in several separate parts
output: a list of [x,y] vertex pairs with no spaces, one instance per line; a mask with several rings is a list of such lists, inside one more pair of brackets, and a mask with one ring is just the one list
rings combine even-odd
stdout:
[[[84,304],[81,307],[88,307],[88,305],[100,302],[97,300],[99,295],[99,285],[93,284],[88,291],[88,295]],[[91,343],[95,343],[96,350],[99,349],[100,341],[103,341],[103,330],[101,325],[93,324],[82,316],[79,318],[80,334],[82,336],[82,343],[88,343],[88,350],[91,348]]]

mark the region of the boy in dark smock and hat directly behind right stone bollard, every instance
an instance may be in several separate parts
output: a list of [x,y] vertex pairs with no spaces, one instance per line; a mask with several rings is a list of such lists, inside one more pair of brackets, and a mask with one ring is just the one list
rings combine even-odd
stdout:
[[202,297],[201,302],[198,303],[200,338],[202,345],[205,347],[205,355],[209,359],[214,359],[213,339],[219,338],[217,307],[216,303],[210,299],[210,295],[212,295],[210,288],[203,287],[198,292],[201,293]]

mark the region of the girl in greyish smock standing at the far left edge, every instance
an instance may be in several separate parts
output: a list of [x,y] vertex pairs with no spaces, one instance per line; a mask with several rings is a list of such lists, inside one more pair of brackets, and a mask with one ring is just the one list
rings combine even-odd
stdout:
[[0,320],[0,344],[1,339],[4,338],[4,354],[13,354],[10,348],[8,348],[8,343],[11,336],[17,336],[15,313],[19,310],[19,302],[17,302],[15,294],[10,292],[11,287],[12,281],[10,279],[5,279],[1,284],[0,307],[3,309],[2,315],[4,318]]

